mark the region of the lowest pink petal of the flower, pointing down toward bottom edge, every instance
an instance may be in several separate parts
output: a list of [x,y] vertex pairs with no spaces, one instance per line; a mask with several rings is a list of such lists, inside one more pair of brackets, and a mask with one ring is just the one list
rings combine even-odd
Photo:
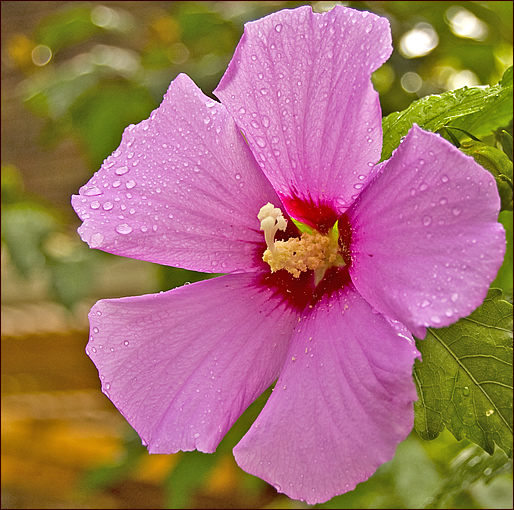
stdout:
[[237,463],[309,504],[352,490],[412,429],[417,355],[351,284],[325,296],[302,317]]

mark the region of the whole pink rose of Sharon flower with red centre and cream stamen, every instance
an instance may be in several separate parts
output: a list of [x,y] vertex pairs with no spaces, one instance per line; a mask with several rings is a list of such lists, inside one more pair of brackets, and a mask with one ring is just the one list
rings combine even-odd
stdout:
[[412,335],[481,304],[505,239],[493,177],[441,137],[414,126],[377,164],[391,51],[386,19],[340,6],[247,23],[221,104],[177,76],[73,197],[91,248],[228,273],[89,314],[150,453],[213,452],[276,381],[236,461],[319,503],[412,429]]

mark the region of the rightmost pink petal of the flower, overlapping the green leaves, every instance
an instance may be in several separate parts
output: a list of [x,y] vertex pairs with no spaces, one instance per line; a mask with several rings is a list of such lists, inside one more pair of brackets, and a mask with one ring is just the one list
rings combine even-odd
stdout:
[[356,288],[421,338],[469,315],[502,264],[499,208],[489,172],[415,125],[348,212]]

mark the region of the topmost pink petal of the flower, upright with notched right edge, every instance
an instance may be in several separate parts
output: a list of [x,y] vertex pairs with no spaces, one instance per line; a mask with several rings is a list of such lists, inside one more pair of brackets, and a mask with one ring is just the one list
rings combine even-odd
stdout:
[[366,182],[382,146],[370,77],[391,51],[385,18],[341,6],[245,25],[215,94],[292,216],[311,202],[341,213]]

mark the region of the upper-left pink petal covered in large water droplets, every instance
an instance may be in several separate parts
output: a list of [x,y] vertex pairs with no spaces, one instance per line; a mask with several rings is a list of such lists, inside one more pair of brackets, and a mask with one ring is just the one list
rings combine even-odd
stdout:
[[212,272],[262,263],[267,202],[279,206],[227,110],[186,75],[72,200],[91,248]]

